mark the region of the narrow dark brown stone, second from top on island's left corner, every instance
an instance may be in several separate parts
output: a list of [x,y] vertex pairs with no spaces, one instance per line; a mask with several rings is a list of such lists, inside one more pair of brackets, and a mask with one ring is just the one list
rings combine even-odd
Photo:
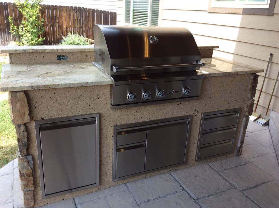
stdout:
[[21,157],[28,155],[27,151],[27,132],[24,124],[14,125],[17,133],[18,150]]

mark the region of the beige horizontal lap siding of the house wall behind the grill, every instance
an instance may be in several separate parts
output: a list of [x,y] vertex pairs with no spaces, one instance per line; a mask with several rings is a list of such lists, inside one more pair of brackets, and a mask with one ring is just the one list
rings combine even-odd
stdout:
[[[117,24],[124,23],[125,0],[117,1]],[[159,26],[186,27],[194,35],[198,46],[220,46],[213,56],[266,68],[269,54],[272,63],[265,80],[257,112],[265,113],[279,70],[279,0],[273,16],[253,14],[208,13],[209,0],[161,0]],[[259,73],[259,84],[264,73]],[[279,112],[279,83],[270,109]]]

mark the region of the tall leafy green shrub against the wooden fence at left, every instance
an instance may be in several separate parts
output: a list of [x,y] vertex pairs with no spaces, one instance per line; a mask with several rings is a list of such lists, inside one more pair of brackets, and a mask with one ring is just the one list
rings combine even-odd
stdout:
[[19,28],[13,24],[13,18],[9,17],[11,25],[11,34],[19,35],[21,42],[17,43],[20,46],[36,46],[43,43],[45,38],[41,38],[43,33],[44,19],[40,20],[40,3],[42,0],[16,0],[18,10],[23,15],[23,21]]

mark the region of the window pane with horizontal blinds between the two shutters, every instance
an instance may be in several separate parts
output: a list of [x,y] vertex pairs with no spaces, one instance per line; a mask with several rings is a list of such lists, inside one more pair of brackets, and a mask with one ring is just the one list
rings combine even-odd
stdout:
[[133,0],[133,24],[147,26],[148,7],[149,0]]

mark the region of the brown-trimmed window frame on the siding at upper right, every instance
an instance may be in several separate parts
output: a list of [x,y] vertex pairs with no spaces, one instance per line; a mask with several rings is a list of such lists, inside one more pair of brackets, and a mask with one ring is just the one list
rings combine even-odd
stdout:
[[[239,1],[239,0],[236,0]],[[214,2],[214,3],[213,3]],[[210,0],[207,12],[212,13],[231,13],[231,14],[259,14],[273,15],[276,0],[268,0],[268,5],[261,2],[249,2],[247,4],[235,4],[232,2],[215,2]],[[226,5],[226,6],[222,6]],[[237,5],[237,6],[235,6]],[[241,6],[242,5],[242,6]],[[250,5],[250,6],[249,6]]]

